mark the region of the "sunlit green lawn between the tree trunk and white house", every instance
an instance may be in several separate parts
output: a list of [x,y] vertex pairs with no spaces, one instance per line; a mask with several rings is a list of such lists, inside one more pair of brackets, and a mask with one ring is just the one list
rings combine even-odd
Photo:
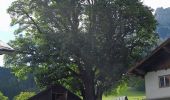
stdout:
[[[145,98],[145,93],[140,91],[135,91],[135,90],[127,90],[118,96],[128,96],[128,100],[142,100],[143,98]],[[103,100],[114,100],[114,98],[118,96],[114,96],[114,95],[103,96]]]

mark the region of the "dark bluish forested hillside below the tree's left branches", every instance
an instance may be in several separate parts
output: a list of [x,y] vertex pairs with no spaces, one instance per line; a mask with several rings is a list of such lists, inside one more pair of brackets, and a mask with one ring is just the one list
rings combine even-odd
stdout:
[[19,80],[8,68],[0,67],[0,91],[10,100],[22,91],[33,91],[36,89],[33,77],[29,75],[28,80]]

